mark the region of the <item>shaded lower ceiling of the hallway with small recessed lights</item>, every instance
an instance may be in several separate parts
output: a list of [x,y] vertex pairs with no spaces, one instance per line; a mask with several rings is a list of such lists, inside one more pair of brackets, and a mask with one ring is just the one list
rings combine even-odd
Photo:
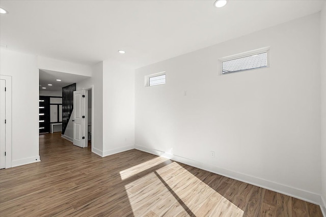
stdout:
[[[56,72],[50,70],[40,70],[39,76],[40,76],[40,90],[48,90],[48,91],[61,91],[62,87],[64,86],[68,86],[70,84],[77,83],[86,78],[89,78],[83,75],[74,75],[74,74]],[[57,79],[61,81],[57,81]],[[52,86],[49,86],[48,84],[52,84]],[[42,89],[42,87],[46,87],[46,89]]]

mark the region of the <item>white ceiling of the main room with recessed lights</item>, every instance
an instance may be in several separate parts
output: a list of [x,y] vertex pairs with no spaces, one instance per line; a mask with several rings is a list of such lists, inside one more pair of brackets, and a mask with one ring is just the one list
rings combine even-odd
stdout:
[[[0,1],[8,49],[139,68],[320,11],[324,1]],[[119,54],[119,49],[126,50]]]

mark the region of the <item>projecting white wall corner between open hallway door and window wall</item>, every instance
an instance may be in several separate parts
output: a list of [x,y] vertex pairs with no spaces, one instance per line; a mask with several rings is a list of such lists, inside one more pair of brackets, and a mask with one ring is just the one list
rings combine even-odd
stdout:
[[[78,82],[76,89],[88,89],[91,85],[94,152],[104,157],[133,149],[134,70],[103,61],[94,67],[92,78]],[[66,132],[68,135],[69,129]]]

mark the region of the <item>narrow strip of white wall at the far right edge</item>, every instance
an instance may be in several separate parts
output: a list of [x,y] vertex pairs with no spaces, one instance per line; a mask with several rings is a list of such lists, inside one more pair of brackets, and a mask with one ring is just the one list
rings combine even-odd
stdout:
[[326,216],[326,3],[321,11],[321,197],[322,210]]

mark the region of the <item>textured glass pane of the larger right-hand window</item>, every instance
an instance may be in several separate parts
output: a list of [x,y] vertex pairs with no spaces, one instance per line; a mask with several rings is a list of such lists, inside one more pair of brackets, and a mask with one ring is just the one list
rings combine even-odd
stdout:
[[222,74],[264,67],[267,67],[267,52],[223,61]]

